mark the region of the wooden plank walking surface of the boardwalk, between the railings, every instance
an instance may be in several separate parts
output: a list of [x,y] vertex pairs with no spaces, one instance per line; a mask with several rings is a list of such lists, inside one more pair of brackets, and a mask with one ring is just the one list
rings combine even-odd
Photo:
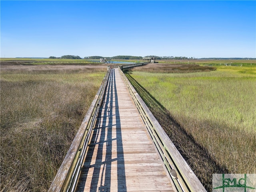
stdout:
[[176,191],[118,68],[92,131],[77,192]]

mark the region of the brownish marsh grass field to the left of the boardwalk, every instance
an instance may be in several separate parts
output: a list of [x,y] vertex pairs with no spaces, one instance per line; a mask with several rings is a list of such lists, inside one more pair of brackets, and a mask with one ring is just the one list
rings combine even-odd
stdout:
[[1,191],[47,191],[106,68],[1,64]]

